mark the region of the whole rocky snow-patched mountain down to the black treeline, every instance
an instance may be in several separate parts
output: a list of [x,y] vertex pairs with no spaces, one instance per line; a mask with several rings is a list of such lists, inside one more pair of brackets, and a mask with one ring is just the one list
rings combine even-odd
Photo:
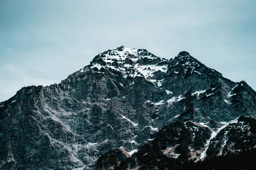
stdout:
[[200,161],[253,148],[255,115],[256,92],[246,82],[188,52],[167,60],[121,46],[59,84],[24,87],[0,103],[0,169]]

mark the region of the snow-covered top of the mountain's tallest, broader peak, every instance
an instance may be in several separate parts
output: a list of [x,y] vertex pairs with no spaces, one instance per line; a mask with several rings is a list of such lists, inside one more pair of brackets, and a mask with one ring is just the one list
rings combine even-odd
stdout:
[[168,62],[167,59],[157,57],[145,49],[121,46],[97,55],[89,68],[97,68],[98,71],[108,68],[120,72],[125,78],[145,77],[151,82],[158,83],[160,79],[157,74],[166,73]]

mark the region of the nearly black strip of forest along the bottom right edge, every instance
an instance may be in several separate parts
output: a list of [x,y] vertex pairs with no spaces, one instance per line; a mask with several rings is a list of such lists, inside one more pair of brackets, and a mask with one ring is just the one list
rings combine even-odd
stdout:
[[[121,156],[119,150],[115,150],[114,153],[111,152],[105,154],[103,159],[108,159],[108,163],[102,164],[102,160],[98,161],[98,170],[108,170],[112,167],[114,170],[128,170],[136,169],[138,170],[255,170],[256,169],[256,149],[241,151],[238,153],[228,152],[225,156],[207,156],[203,161],[185,161],[183,163],[182,159],[168,158],[163,154],[156,154],[151,147],[146,144],[141,149],[147,151],[147,155],[143,155],[142,152],[137,153],[135,157],[130,157],[124,159]],[[122,159],[120,159],[120,156]],[[111,159],[111,161],[110,161]],[[106,164],[107,163],[107,164]],[[119,164],[120,163],[120,164]]]

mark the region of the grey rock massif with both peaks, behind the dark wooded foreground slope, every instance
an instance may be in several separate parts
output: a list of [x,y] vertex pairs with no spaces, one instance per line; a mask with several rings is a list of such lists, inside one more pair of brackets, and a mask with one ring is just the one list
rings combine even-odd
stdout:
[[136,150],[177,119],[218,124],[255,115],[255,96],[187,52],[168,61],[121,46],[58,85],[22,88],[1,102],[0,166],[93,167],[103,153]]

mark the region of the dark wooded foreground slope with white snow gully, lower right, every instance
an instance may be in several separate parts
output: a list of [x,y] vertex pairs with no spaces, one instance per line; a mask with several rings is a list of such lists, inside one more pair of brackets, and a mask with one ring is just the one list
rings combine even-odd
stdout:
[[[255,169],[250,161],[255,156],[255,123],[255,118],[241,116],[210,133],[212,128],[203,123],[176,121],[128,158],[122,158],[119,150],[105,153],[98,159],[96,170]],[[205,148],[205,143],[209,147]]]

